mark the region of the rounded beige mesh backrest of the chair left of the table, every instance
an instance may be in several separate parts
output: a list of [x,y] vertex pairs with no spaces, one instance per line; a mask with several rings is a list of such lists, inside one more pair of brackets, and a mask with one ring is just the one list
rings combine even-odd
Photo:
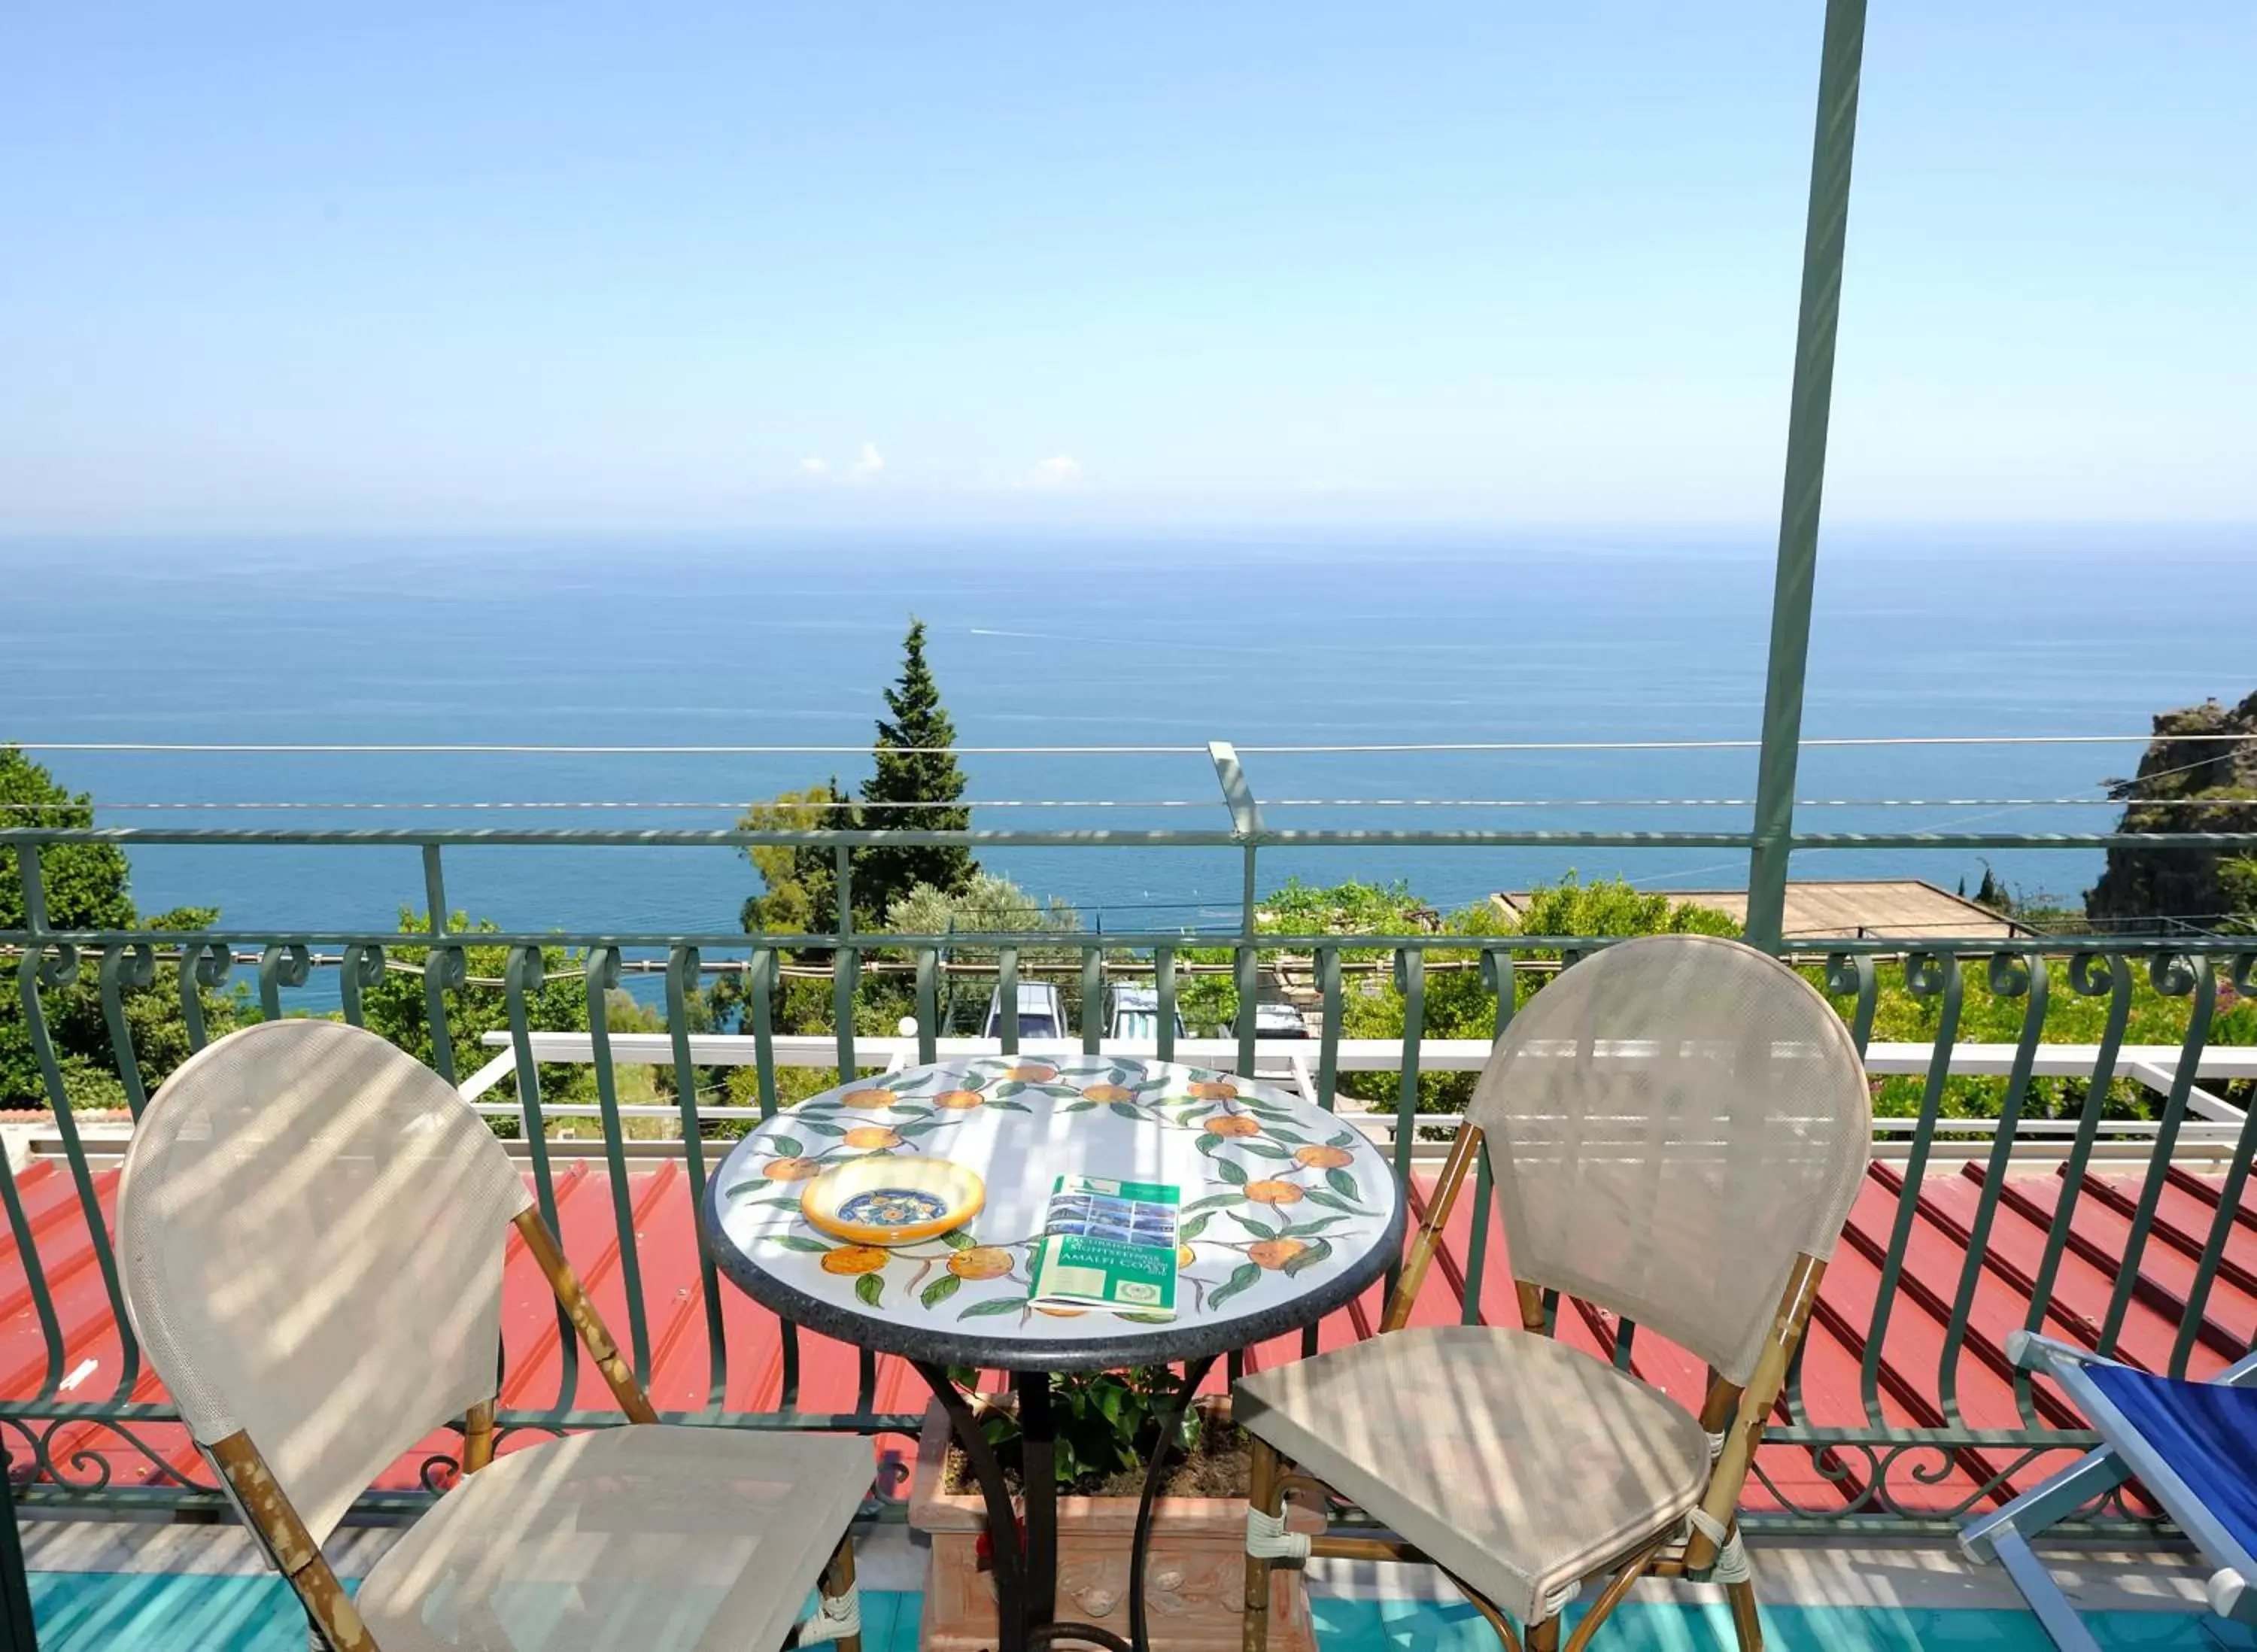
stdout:
[[142,1115],[126,1309],[199,1442],[244,1429],[314,1541],[494,1397],[501,1253],[530,1198],[460,1095],[375,1034],[246,1027]]

